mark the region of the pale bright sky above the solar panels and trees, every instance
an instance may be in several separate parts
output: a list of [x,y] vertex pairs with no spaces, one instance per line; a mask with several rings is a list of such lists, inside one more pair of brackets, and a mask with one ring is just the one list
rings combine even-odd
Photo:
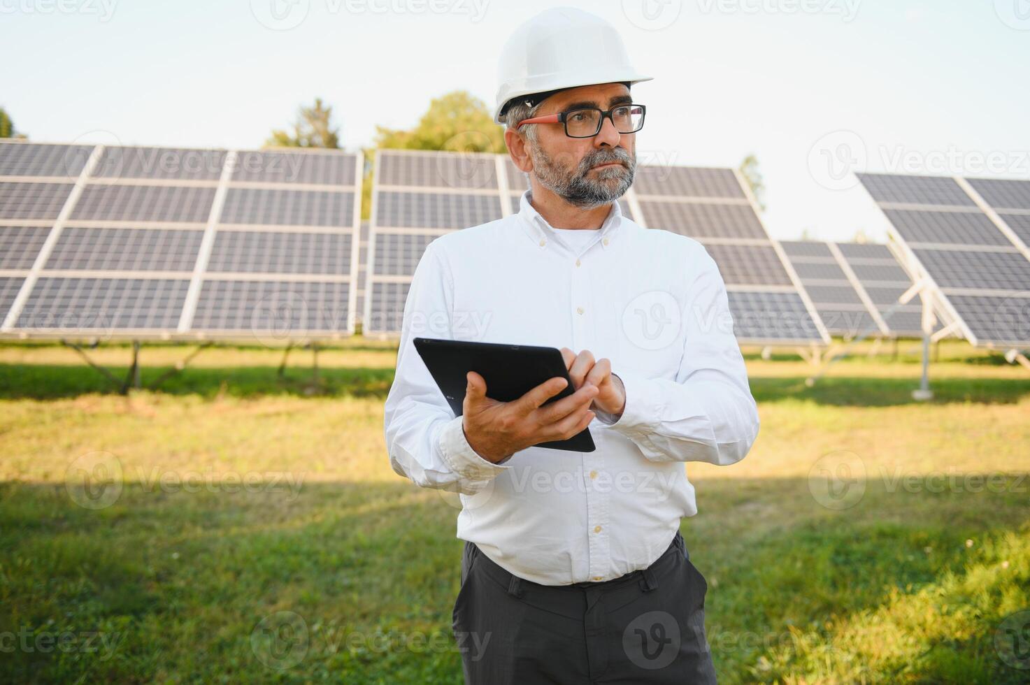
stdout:
[[[619,27],[648,106],[642,161],[755,153],[765,221],[884,237],[854,170],[1030,178],[1030,0],[563,2]],[[0,106],[31,139],[260,147],[299,105],[342,142],[464,89],[493,106],[501,0],[0,0]]]

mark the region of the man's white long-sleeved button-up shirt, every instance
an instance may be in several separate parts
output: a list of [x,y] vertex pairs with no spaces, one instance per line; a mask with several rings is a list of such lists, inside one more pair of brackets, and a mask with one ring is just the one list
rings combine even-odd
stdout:
[[[650,566],[697,512],[683,463],[733,464],[758,433],[726,288],[705,247],[641,228],[617,202],[590,233],[565,244],[527,192],[518,213],[430,243],[384,408],[393,471],[459,492],[457,537],[545,585]],[[529,447],[491,464],[470,447],[415,337],[588,349],[611,361],[625,407],[614,422],[590,422],[593,452]]]

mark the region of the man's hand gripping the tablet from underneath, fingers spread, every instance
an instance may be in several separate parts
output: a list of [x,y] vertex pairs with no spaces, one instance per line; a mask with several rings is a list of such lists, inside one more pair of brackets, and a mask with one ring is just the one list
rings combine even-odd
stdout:
[[493,464],[542,442],[568,440],[594,417],[589,407],[597,397],[597,387],[592,383],[584,383],[568,398],[543,407],[564,388],[564,378],[549,378],[511,402],[486,397],[486,381],[475,371],[466,378],[469,386],[461,404],[465,437],[477,454]]

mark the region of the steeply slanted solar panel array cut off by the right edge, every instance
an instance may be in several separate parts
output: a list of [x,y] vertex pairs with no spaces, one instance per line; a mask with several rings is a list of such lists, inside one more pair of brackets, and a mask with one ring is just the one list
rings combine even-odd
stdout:
[[859,174],[907,270],[974,345],[1030,346],[1030,180]]

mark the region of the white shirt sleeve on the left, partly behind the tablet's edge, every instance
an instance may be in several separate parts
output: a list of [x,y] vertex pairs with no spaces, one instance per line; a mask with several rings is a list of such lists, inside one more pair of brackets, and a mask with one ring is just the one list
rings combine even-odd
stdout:
[[415,349],[416,337],[453,339],[453,281],[439,252],[430,243],[412,277],[383,431],[390,467],[398,475],[421,487],[474,494],[511,465],[507,459],[493,464],[472,448],[461,416],[454,416]]

